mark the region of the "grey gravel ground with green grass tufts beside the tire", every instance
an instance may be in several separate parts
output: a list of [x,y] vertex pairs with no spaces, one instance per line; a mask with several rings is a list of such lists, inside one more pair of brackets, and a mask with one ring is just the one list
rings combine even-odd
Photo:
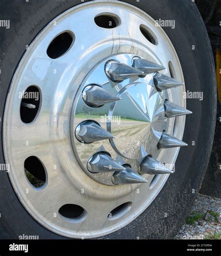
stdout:
[[175,239],[221,239],[221,199],[198,194]]

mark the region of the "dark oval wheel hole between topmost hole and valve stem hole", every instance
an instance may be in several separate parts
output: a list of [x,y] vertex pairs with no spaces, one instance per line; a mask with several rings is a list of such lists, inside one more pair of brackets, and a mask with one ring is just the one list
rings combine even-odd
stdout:
[[75,35],[71,32],[63,32],[57,35],[49,44],[47,55],[51,59],[57,59],[67,53],[75,41]]

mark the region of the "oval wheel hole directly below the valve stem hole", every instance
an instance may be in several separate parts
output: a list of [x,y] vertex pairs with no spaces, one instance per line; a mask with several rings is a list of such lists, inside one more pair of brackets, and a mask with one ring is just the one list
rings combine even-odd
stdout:
[[41,190],[47,185],[47,171],[40,159],[35,156],[28,157],[25,159],[24,169],[25,175],[33,187]]

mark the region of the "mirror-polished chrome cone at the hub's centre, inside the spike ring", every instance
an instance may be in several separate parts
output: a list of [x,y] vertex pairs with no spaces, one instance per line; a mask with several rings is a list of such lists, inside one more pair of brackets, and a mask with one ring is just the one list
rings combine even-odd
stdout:
[[147,83],[131,83],[119,91],[112,104],[108,128],[115,136],[111,145],[125,158],[138,159],[141,146],[156,150],[164,127],[164,104],[159,92]]

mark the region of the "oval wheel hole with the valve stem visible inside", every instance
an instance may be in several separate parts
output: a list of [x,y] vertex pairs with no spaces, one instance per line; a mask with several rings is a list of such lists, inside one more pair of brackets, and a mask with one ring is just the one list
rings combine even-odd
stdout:
[[24,92],[19,93],[21,99],[20,117],[21,121],[29,124],[37,118],[41,109],[41,91],[32,85]]

